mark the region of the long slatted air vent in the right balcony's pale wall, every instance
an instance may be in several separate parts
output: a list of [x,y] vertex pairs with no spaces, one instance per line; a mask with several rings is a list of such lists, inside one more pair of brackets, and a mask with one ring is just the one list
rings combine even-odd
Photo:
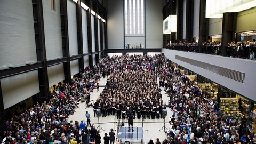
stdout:
[[221,76],[225,76],[225,77],[233,79],[237,82],[244,83],[245,74],[242,73],[242,72],[227,69],[227,68],[223,68],[223,67],[219,67],[219,66],[215,66],[215,65],[211,65],[209,63],[205,63],[205,62],[202,62],[202,61],[188,59],[188,58],[185,58],[185,57],[181,57],[179,55],[175,55],[175,59],[186,62],[186,63],[189,63],[190,65],[193,65],[193,66],[203,68],[205,70],[209,70],[212,73],[219,74]]

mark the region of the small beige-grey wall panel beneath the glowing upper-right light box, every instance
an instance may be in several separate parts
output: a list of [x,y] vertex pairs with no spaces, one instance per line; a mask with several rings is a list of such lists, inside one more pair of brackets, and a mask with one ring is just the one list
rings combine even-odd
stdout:
[[221,35],[222,34],[222,18],[210,18],[209,19],[209,31],[208,35]]

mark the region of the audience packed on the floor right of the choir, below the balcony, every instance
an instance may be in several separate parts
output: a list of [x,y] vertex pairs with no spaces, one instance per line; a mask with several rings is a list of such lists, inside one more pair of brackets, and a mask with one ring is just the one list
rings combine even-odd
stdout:
[[236,121],[220,111],[217,99],[203,93],[171,61],[159,76],[173,110],[166,143],[256,143],[245,117]]

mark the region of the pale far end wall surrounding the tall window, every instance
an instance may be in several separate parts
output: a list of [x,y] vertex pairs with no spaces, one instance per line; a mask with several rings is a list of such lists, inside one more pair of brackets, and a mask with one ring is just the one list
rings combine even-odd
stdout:
[[[163,1],[145,1],[145,34],[124,36],[124,1],[108,2],[108,49],[122,49],[128,43],[160,48],[163,42]],[[125,41],[125,42],[124,42]],[[146,41],[146,43],[145,43]]]

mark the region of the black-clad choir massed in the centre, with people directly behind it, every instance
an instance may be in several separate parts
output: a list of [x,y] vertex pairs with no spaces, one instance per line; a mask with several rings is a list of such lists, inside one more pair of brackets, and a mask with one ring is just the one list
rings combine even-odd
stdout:
[[166,104],[157,84],[162,57],[125,56],[111,61],[113,75],[108,78],[105,90],[93,106],[94,115],[100,109],[102,117],[116,115],[124,119],[131,112],[138,119],[163,118]]

